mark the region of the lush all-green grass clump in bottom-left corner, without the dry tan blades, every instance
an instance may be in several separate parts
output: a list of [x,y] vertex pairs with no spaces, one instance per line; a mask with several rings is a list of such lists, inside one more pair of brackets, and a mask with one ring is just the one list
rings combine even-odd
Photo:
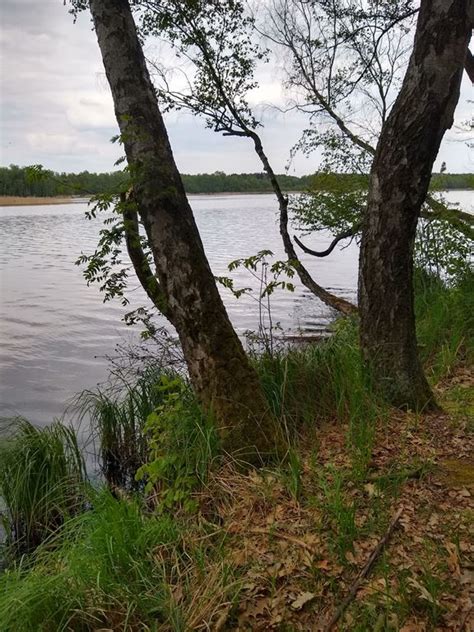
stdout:
[[0,577],[2,632],[146,630],[163,620],[167,588],[155,556],[177,543],[176,525],[108,492],[91,502],[27,568]]

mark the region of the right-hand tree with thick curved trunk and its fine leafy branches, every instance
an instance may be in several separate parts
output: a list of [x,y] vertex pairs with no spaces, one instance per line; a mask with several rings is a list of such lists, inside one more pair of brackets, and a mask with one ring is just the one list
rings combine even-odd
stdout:
[[[425,20],[426,4],[422,3]],[[427,226],[431,240],[442,237],[448,263],[453,240],[461,242],[459,253],[464,254],[474,225],[472,215],[450,209],[442,200],[426,195],[439,143],[452,123],[462,66],[465,64],[468,73],[471,68],[467,43],[472,5],[461,2],[455,9],[452,2],[445,4],[446,15],[457,10],[461,16],[456,25],[451,24],[458,32],[451,31],[442,43],[442,35],[436,31],[430,43],[436,47],[442,44],[443,50],[451,47],[454,55],[450,65],[441,68],[445,60],[439,52],[434,60],[438,65],[430,67],[429,44],[425,42],[420,52],[421,36],[417,35],[402,93],[407,90],[410,76],[415,83],[416,70],[418,76],[420,70],[425,73],[420,78],[419,93],[429,81],[447,83],[437,96],[429,90],[419,94],[419,103],[399,96],[392,104],[409,50],[403,41],[410,21],[419,12],[412,0],[272,0],[265,27],[274,44],[287,51],[286,83],[293,96],[290,107],[310,117],[310,126],[296,149],[310,152],[321,147],[327,172],[324,186],[309,201],[304,200],[297,216],[307,230],[330,228],[335,238],[322,252],[312,251],[299,240],[297,243],[310,254],[326,256],[342,239],[359,234],[364,226],[359,284],[362,349],[387,397],[396,404],[416,408],[433,402],[415,338],[411,277],[417,220],[421,216],[429,222],[422,223],[422,235]],[[443,20],[439,17],[441,3],[434,3],[429,11],[433,20],[430,26],[439,27]],[[438,17],[438,23],[433,16]],[[416,55],[418,64],[414,69]],[[424,62],[420,59],[423,56]],[[392,113],[392,107],[398,108],[397,113]],[[394,121],[398,128],[388,132]],[[403,129],[404,122],[409,129]],[[383,132],[376,150],[380,127]],[[363,182],[340,177],[331,182],[331,171],[363,175],[372,162],[368,199]],[[418,178],[418,182],[410,178]],[[374,204],[376,182],[381,190],[378,208]],[[368,204],[370,219],[366,218]],[[398,222],[397,231],[392,230],[389,220]],[[425,253],[432,251],[425,248]]]

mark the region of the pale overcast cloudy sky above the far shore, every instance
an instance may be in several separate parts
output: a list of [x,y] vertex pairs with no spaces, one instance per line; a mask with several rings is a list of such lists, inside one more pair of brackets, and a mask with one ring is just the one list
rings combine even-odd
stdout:
[[[63,0],[0,0],[0,165],[42,164],[55,171],[111,171],[121,156],[110,139],[117,134],[95,33],[87,14],[74,24]],[[280,69],[267,67],[259,98],[283,103]],[[456,111],[460,123],[472,116],[472,85],[464,73]],[[225,138],[189,114],[165,122],[183,173],[261,171],[247,139]],[[263,110],[262,137],[274,169],[283,172],[290,149],[305,126],[301,115]],[[450,172],[474,171],[474,150],[455,126],[435,164]],[[319,156],[298,156],[289,173],[317,170]]]

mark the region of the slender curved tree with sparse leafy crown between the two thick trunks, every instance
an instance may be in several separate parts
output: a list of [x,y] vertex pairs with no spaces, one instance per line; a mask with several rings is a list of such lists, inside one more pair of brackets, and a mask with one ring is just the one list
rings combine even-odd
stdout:
[[168,81],[166,69],[153,64],[158,93],[168,108],[187,109],[206,121],[206,126],[224,136],[248,138],[266,173],[279,208],[279,227],[286,256],[303,285],[325,304],[344,314],[356,307],[321,287],[299,260],[288,231],[288,196],[265,152],[258,134],[261,123],[247,98],[257,86],[254,71],[266,57],[254,41],[254,18],[238,0],[146,0],[142,32],[166,37],[180,58],[192,65],[193,77],[185,75],[186,88],[177,91]]

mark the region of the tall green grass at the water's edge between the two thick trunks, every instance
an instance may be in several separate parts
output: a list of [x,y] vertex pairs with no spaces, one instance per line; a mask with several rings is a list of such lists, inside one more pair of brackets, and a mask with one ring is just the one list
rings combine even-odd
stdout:
[[348,426],[354,467],[365,468],[385,407],[364,367],[355,321],[340,320],[327,340],[256,357],[255,364],[273,412],[288,428],[338,419]]

